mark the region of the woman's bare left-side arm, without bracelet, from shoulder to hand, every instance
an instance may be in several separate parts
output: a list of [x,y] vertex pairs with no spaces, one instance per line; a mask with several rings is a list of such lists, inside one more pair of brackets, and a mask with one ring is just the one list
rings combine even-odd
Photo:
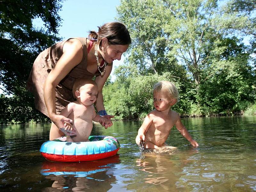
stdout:
[[83,58],[82,44],[77,39],[70,39],[63,45],[63,54],[44,82],[44,102],[52,122],[58,128],[64,128],[64,121],[72,123],[65,116],[56,115],[55,88],[60,81],[78,65]]

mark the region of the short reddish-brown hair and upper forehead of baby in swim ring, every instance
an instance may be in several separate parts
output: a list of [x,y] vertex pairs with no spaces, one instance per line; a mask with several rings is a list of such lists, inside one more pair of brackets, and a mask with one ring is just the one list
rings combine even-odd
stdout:
[[96,84],[95,81],[93,81],[92,79],[88,79],[88,78],[79,78],[75,81],[74,85],[73,85],[73,97],[75,99],[77,99],[78,97],[80,97],[80,92],[81,89],[94,89],[94,91],[97,91],[98,94],[98,85]]

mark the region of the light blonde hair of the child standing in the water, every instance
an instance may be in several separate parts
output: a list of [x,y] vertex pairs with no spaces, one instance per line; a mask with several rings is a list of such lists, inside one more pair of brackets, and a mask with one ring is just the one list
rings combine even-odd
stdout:
[[177,87],[170,81],[159,81],[153,86],[153,93],[167,92],[170,99],[176,99],[179,102],[179,91]]

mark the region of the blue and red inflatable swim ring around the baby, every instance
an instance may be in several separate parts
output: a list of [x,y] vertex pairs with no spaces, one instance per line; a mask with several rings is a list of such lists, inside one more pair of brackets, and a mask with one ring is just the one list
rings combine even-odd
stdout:
[[120,144],[115,137],[90,136],[90,142],[49,140],[42,144],[41,154],[49,161],[93,161],[116,155]]

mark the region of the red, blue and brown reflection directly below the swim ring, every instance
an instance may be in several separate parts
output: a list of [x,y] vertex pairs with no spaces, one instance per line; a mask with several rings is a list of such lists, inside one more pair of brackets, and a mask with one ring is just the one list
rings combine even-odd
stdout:
[[[116,177],[111,173],[115,165],[120,163],[119,155],[90,162],[61,163],[45,161],[41,174],[53,181],[52,188],[44,188],[42,191],[51,191],[53,188],[70,188],[72,191],[105,191],[112,188],[111,183]],[[104,182],[100,186],[100,182]],[[97,188],[95,189],[95,187]]]

